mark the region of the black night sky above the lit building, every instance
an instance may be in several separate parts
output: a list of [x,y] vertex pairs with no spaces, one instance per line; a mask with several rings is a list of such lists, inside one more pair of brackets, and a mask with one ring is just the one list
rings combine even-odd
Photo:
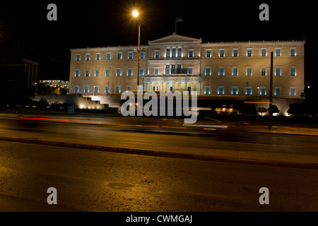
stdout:
[[[51,3],[57,21],[47,20]],[[262,3],[269,5],[269,21],[259,20]],[[141,44],[171,35],[176,17],[183,19],[177,34],[203,42],[306,39],[306,83],[318,77],[313,1],[1,1],[0,45],[8,44],[4,35],[20,43],[23,57],[40,62],[40,79],[69,80],[70,47],[138,44],[134,7],[142,16]]]

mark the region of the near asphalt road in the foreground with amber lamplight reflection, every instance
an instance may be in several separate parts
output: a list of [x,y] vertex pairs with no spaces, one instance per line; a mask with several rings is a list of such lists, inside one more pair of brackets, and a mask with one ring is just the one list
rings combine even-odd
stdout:
[[[318,171],[0,142],[4,211],[317,211]],[[47,189],[57,189],[57,205]],[[269,189],[269,204],[259,189]]]

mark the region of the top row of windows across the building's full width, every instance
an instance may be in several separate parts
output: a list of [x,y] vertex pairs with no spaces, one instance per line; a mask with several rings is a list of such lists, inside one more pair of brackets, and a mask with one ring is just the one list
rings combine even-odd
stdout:
[[[239,57],[238,54],[238,48],[232,49],[232,57]],[[267,57],[267,49],[261,48],[260,56],[261,57]],[[247,48],[246,49],[246,56],[252,57],[253,56],[253,48]],[[296,56],[296,47],[290,47],[290,57]],[[154,58],[160,58],[160,50],[155,50],[155,54],[153,56]],[[165,49],[165,57],[166,58],[175,58],[175,57],[184,57],[182,48],[167,48]],[[187,57],[194,57],[194,49],[188,49]],[[212,57],[211,49],[206,49],[206,55],[205,57]],[[225,49],[218,49],[218,57],[225,57]],[[275,57],[281,57],[281,47],[275,48]],[[90,61],[90,53],[86,53],[85,60]],[[96,53],[96,60],[101,60],[101,54]],[[110,60],[112,59],[112,52],[106,53],[106,59]],[[117,52],[117,59],[123,59],[122,58],[122,52]],[[134,52],[128,52],[127,59],[134,59]],[[145,53],[140,52],[140,59],[145,59]],[[81,54],[76,54],[76,61],[81,61]]]

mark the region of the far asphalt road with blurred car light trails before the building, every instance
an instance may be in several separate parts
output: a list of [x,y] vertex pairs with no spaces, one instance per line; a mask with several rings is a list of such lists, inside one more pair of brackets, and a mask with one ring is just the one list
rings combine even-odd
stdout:
[[[110,118],[109,124],[81,124],[64,121],[5,120],[0,132],[28,134],[30,138],[69,138],[70,141],[93,141],[100,145],[122,148],[153,148],[165,150],[214,148],[218,150],[297,153],[317,155],[317,136],[290,136],[288,134],[250,133],[248,126],[235,125],[228,129],[204,130],[188,126],[184,129],[178,119]],[[217,124],[218,125],[218,124]],[[159,127],[160,126],[160,127]]]

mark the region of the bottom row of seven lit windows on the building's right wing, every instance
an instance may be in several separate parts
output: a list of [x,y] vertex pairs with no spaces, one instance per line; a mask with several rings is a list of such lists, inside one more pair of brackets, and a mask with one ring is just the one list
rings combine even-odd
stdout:
[[[211,88],[210,86],[205,86],[204,87],[204,94],[210,95],[211,94]],[[218,86],[217,90],[218,95],[224,95],[225,90],[224,86]],[[231,95],[239,95],[239,90],[237,86],[232,86],[231,89]],[[281,87],[275,87],[274,88],[274,95],[281,95]],[[252,86],[247,86],[245,88],[245,95],[252,95]],[[257,95],[266,95],[266,87],[257,87]],[[290,87],[289,88],[289,95],[290,96],[295,96],[296,95],[296,88],[295,87]]]

